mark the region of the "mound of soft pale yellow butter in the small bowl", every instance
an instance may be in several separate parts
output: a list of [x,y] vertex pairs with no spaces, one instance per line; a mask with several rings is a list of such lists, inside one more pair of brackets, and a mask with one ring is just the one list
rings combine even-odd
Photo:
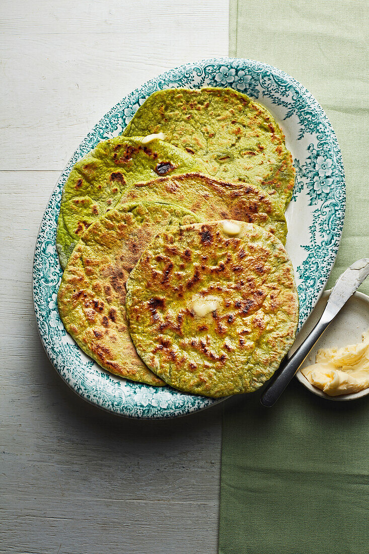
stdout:
[[344,348],[322,348],[315,364],[301,373],[307,381],[329,396],[362,391],[369,387],[369,331],[362,343]]

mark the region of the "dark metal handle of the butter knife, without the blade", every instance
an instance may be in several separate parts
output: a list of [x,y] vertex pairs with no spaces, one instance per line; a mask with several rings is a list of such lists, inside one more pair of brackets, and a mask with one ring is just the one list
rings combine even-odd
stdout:
[[332,320],[326,320],[323,316],[317,322],[310,335],[306,337],[306,339],[304,340],[302,345],[299,346],[296,352],[294,352],[293,355],[288,360],[286,360],[285,363],[282,363],[281,371],[278,373],[278,376],[274,379],[273,383],[271,383],[269,387],[265,389],[262,396],[260,397],[260,402],[263,404],[263,406],[273,406],[273,404],[278,400],[288,383],[295,375],[296,371],[298,371],[299,367],[304,362],[311,348],[315,345],[319,337],[321,337],[326,328],[329,326]]

